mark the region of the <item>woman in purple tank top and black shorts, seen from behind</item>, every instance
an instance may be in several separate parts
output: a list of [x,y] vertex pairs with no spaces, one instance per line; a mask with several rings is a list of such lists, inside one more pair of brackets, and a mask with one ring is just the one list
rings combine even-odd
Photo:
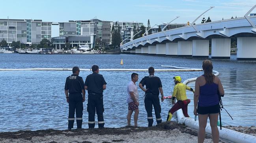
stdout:
[[198,115],[199,130],[198,143],[203,143],[206,135],[206,124],[209,117],[213,143],[219,142],[219,130],[217,127],[220,105],[219,97],[224,95],[224,89],[220,79],[213,74],[213,65],[210,60],[203,61],[204,75],[196,78],[194,93],[194,115]]

